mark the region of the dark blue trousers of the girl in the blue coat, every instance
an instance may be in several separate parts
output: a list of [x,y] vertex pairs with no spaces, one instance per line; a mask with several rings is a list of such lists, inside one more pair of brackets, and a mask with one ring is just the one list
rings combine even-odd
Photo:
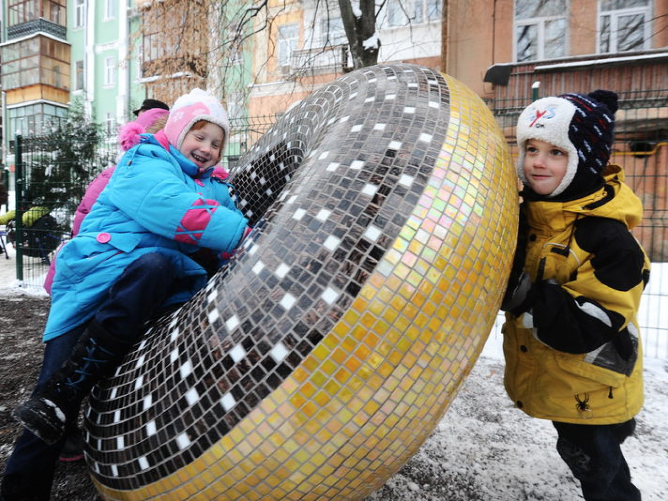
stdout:
[[[146,320],[156,312],[173,287],[174,271],[170,259],[158,253],[146,254],[131,263],[112,285],[92,321],[118,339],[134,341],[144,333]],[[33,394],[69,358],[86,325],[46,342]],[[1,490],[3,501],[48,501],[53,472],[64,442],[63,437],[49,445],[23,430],[5,467]]]

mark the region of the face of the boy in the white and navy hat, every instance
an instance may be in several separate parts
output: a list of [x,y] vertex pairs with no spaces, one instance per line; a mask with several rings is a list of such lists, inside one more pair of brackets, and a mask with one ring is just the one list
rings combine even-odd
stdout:
[[530,139],[524,146],[524,176],[536,194],[549,195],[566,174],[568,153],[538,139]]

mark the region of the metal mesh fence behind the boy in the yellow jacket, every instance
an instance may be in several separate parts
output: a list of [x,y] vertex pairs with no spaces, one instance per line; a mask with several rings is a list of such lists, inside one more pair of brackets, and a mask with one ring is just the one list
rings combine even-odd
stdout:
[[[619,99],[611,163],[624,168],[625,182],[643,202],[643,220],[633,234],[652,261],[638,319],[648,347],[645,355],[665,359],[668,323],[661,307],[668,297],[668,90],[621,92]],[[488,102],[514,158],[518,153],[515,125],[531,101],[532,96]],[[502,317],[494,327],[496,335],[501,325]]]

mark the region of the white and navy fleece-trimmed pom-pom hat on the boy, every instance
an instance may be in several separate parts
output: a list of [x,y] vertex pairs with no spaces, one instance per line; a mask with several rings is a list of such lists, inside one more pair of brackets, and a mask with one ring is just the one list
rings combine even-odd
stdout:
[[591,94],[561,94],[536,100],[522,111],[517,122],[519,148],[517,172],[525,186],[526,141],[548,142],[568,153],[562,182],[548,195],[585,194],[600,184],[613,146],[617,94],[597,90]]

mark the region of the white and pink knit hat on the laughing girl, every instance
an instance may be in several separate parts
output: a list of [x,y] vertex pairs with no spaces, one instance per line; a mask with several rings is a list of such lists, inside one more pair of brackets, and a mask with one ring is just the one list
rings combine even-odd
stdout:
[[225,137],[220,148],[222,152],[230,135],[230,121],[220,101],[201,89],[191,90],[188,94],[178,98],[172,106],[164,128],[170,144],[180,150],[183,138],[186,137],[195,122],[200,120],[216,124],[224,130]]

